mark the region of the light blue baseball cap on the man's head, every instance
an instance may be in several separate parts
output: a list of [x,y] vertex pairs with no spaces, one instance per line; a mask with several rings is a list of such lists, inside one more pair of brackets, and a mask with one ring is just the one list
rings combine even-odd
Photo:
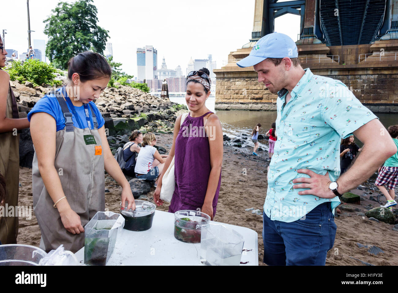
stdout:
[[250,55],[236,64],[239,67],[249,67],[267,58],[297,58],[296,43],[284,33],[269,33],[256,42]]

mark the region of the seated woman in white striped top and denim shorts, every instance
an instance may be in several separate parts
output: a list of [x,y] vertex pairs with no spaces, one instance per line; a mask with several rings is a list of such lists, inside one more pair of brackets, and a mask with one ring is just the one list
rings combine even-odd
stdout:
[[[152,181],[162,173],[167,155],[160,155],[156,147],[156,137],[152,132],[144,134],[142,147],[135,163],[135,175],[138,179]],[[155,186],[158,181],[156,180]]]

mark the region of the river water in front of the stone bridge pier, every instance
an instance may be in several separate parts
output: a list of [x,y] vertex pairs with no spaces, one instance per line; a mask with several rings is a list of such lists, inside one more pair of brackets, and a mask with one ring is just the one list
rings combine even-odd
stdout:
[[[170,99],[172,102],[178,102],[179,104],[185,103],[185,97],[174,97]],[[254,126],[257,123],[261,123],[260,134],[265,134],[270,128],[271,124],[275,122],[277,113],[276,111],[244,111],[244,110],[220,110],[215,111],[215,97],[209,97],[206,101],[206,106],[209,110],[217,113],[219,116],[222,131],[224,134],[234,139],[242,139],[244,137],[242,134],[247,134],[249,139],[242,140],[242,146],[254,146],[252,143],[251,134]],[[376,113],[376,116],[380,119],[380,122],[385,128],[390,125],[398,124],[398,114],[397,113]],[[373,134],[369,134],[373,135]],[[262,142],[262,144],[261,144]],[[356,140],[355,143],[362,147],[362,143]],[[260,147],[263,149],[268,149],[267,141],[260,141]]]

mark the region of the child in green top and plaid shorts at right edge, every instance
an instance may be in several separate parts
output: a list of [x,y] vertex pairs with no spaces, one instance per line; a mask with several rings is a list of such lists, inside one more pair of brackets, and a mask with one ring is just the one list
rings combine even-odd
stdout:
[[[388,133],[390,134],[392,140],[398,148],[398,125],[392,125],[388,127]],[[389,208],[392,210],[392,206],[395,206],[397,203],[395,201],[395,191],[394,188],[398,183],[398,151],[389,157],[383,166],[378,168],[378,176],[375,182],[375,185],[382,192],[382,194],[386,197],[387,203],[383,206],[384,208]],[[387,189],[383,186],[387,185]]]

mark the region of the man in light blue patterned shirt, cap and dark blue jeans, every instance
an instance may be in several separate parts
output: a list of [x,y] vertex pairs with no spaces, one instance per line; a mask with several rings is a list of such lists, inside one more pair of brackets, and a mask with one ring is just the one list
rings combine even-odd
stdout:
[[[263,215],[264,262],[324,265],[336,235],[332,211],[338,196],[368,179],[396,147],[381,135],[385,128],[377,117],[341,81],[302,69],[297,46],[287,35],[262,37],[237,64],[253,65],[259,82],[278,93],[278,140]],[[365,146],[339,178],[340,141],[351,133]]]

